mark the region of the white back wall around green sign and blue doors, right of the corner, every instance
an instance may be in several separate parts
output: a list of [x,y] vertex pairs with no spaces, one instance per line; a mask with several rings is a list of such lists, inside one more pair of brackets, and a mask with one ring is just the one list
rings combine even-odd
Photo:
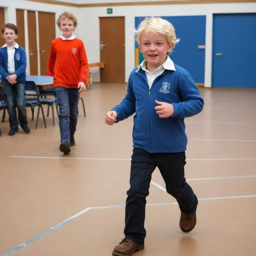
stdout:
[[[111,6],[108,6],[111,7]],[[134,67],[135,16],[179,16],[206,15],[205,79],[204,86],[211,87],[212,21],[213,13],[256,12],[255,3],[215,3],[215,4],[170,4],[113,6],[113,14],[106,14],[107,7],[84,7],[80,9],[80,38],[84,41],[90,62],[100,61],[99,18],[103,16],[125,16],[125,80]],[[81,25],[82,23],[82,25]],[[99,81],[99,69],[91,69],[93,81]]]

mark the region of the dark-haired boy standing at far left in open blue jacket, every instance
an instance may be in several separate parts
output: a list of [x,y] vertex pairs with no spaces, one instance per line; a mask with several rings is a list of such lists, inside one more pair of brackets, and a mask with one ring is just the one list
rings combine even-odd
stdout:
[[29,133],[25,105],[26,53],[24,48],[15,42],[18,29],[14,24],[7,23],[2,27],[2,37],[5,44],[0,48],[0,79],[7,95],[10,124],[8,135],[13,136],[18,131],[18,121],[23,131]]

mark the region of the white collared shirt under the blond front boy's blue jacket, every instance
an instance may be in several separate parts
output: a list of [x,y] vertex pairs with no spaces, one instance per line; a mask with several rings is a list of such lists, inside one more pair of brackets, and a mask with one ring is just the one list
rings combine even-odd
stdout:
[[145,73],[146,73],[146,78],[147,78],[147,83],[148,83],[149,89],[151,88],[154,79],[158,75],[160,75],[164,71],[164,69],[174,70],[175,71],[174,63],[170,59],[169,56],[167,56],[165,61],[163,62],[163,64],[161,66],[159,66],[158,68],[156,68],[153,72],[150,72],[150,71],[148,71],[146,69],[146,60],[145,59],[141,62],[141,64],[139,65],[138,69],[136,70],[136,72],[139,70],[139,68],[144,70]]

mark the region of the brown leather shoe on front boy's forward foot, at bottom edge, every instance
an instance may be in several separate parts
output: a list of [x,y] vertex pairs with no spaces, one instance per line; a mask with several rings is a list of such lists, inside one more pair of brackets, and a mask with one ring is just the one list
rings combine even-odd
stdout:
[[120,243],[114,247],[112,255],[114,256],[131,256],[134,252],[144,249],[144,244],[138,244],[129,239],[122,239]]

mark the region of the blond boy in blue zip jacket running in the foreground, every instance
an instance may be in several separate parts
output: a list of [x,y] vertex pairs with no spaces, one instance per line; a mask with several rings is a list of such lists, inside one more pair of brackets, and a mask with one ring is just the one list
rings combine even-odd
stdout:
[[156,166],[167,193],[178,202],[180,229],[189,232],[196,224],[197,197],[184,177],[184,118],[199,113],[203,99],[188,71],[168,56],[178,41],[171,23],[159,17],[146,18],[135,34],[144,60],[131,71],[123,100],[105,116],[111,125],[135,112],[125,237],[112,252],[116,256],[144,248],[146,196]]

